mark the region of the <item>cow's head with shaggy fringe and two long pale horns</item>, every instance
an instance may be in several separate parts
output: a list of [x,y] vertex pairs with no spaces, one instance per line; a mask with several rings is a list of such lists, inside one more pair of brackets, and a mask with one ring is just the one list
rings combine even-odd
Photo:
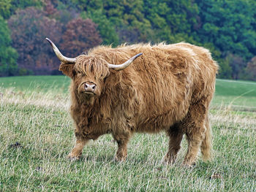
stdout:
[[67,58],[61,54],[50,39],[46,39],[61,61],[59,69],[72,78],[75,82],[75,90],[80,96],[84,96],[84,98],[91,98],[101,94],[105,78],[110,74],[110,69],[117,71],[125,69],[135,58],[142,55],[142,53],[138,53],[132,58],[129,58],[124,64],[118,65],[108,64],[100,55],[79,55],[76,58]]

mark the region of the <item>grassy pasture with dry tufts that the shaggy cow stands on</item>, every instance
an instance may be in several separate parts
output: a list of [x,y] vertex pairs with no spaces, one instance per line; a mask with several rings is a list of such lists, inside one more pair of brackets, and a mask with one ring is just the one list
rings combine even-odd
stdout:
[[135,134],[124,163],[110,135],[68,161],[75,137],[69,79],[0,78],[0,191],[256,191],[256,82],[217,80],[211,104],[214,161],[162,164],[165,134]]

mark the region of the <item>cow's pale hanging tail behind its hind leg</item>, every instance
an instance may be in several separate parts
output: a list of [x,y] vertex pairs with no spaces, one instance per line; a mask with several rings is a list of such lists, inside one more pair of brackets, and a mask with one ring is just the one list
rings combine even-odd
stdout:
[[203,161],[212,160],[212,142],[211,142],[211,125],[208,120],[208,115],[206,118],[206,133],[201,145],[201,153],[203,155]]

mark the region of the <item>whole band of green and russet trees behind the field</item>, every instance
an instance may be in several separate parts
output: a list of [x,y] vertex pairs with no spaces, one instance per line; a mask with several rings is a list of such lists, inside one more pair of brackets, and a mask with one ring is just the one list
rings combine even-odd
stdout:
[[254,0],[0,0],[0,76],[59,74],[45,37],[75,57],[97,45],[189,42],[219,78],[256,80]]

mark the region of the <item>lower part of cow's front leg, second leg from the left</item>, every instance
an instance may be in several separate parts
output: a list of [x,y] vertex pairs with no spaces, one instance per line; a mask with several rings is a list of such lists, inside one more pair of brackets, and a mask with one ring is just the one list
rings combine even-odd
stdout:
[[127,144],[129,141],[129,134],[126,135],[114,135],[114,139],[117,142],[118,150],[116,151],[116,161],[125,161],[127,158]]

